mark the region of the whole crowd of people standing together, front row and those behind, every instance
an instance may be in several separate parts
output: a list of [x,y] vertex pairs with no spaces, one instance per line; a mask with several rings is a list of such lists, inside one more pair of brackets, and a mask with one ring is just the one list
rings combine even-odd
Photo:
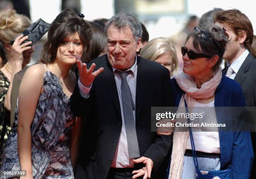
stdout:
[[[217,8],[190,20],[177,38],[149,41],[132,14],[90,22],[67,9],[28,66],[34,46],[22,32],[31,21],[0,11],[0,177],[256,178],[253,131],[151,130],[151,107],[256,106],[248,17]],[[233,120],[224,113],[204,116]]]

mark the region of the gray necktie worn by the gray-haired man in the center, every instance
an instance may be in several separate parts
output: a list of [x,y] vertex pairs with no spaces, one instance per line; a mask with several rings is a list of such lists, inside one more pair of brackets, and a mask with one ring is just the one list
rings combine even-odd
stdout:
[[121,83],[121,94],[122,94],[122,104],[123,104],[123,116],[125,121],[125,131],[128,144],[129,159],[134,159],[140,157],[140,151],[138,147],[138,139],[136,134],[135,121],[133,116],[133,97],[131,95],[131,90],[126,80],[127,75],[131,72],[119,72],[116,71],[122,79]]

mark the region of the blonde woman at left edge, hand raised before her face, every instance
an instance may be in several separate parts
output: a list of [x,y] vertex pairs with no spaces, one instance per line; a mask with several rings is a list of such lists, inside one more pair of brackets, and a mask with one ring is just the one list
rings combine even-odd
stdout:
[[[28,36],[20,35],[28,26],[30,20],[15,13],[14,10],[0,11],[0,41],[4,45],[7,62],[0,69],[0,159],[3,148],[10,133],[10,92],[15,73],[30,62],[33,48],[31,41],[23,43]],[[10,44],[18,36],[13,45]],[[22,44],[22,45],[21,45]]]

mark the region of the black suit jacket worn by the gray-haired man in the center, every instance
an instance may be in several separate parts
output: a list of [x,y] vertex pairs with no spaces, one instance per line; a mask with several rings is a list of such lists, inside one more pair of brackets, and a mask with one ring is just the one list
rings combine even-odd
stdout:
[[[96,64],[95,70],[104,67],[104,71],[93,81],[90,97],[83,99],[76,86],[70,101],[72,112],[87,118],[83,121],[78,163],[88,179],[105,179],[114,158],[122,118],[115,77],[107,55],[92,63]],[[169,151],[172,136],[151,132],[151,106],[173,106],[170,74],[160,64],[140,56],[137,65],[135,106],[139,150],[141,156],[152,159],[156,170]]]

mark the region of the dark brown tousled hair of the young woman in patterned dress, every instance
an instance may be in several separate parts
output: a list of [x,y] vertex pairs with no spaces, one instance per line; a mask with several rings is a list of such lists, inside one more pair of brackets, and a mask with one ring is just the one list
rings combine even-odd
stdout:
[[48,41],[43,47],[41,62],[45,64],[53,63],[60,44],[65,38],[76,32],[84,47],[82,59],[86,61],[90,55],[88,52],[90,39],[92,38],[91,26],[83,18],[75,14],[74,11],[67,9],[57,15],[51,23],[48,31]]

